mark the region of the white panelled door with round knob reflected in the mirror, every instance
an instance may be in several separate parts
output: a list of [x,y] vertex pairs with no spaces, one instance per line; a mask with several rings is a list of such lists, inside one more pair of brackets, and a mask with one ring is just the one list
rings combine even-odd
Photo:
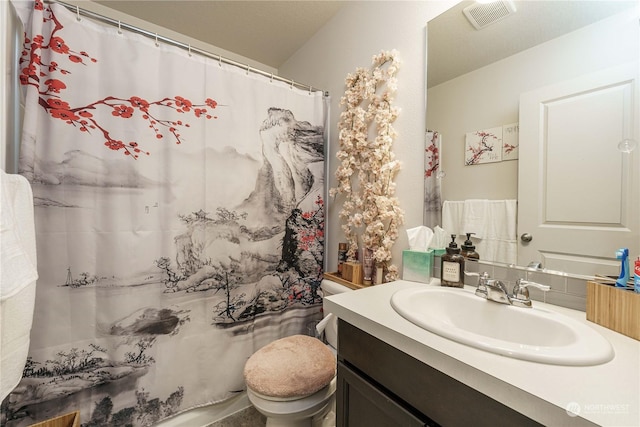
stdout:
[[617,149],[640,139],[638,77],[635,62],[521,95],[519,265],[617,275],[617,249],[640,256],[640,149]]

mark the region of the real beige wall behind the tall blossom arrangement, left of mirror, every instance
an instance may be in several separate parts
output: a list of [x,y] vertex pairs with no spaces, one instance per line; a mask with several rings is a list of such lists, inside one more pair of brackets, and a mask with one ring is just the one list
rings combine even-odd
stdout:
[[[396,49],[402,60],[398,72],[395,105],[401,108],[395,128],[398,138],[394,152],[402,161],[396,179],[397,196],[405,210],[405,226],[422,224],[426,23],[457,1],[367,1],[349,2],[282,67],[281,75],[328,90],[331,94],[329,185],[335,186],[338,148],[337,123],[344,79],[357,67],[371,64],[381,50]],[[326,256],[328,269],[337,269],[338,242],[344,241],[337,206],[328,201]],[[407,249],[404,228],[394,250],[394,262],[400,266],[402,250]]]

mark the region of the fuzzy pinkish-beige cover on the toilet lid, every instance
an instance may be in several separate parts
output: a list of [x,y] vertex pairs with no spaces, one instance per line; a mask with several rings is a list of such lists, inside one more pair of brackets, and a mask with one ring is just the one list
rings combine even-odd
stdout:
[[247,360],[247,386],[265,396],[304,397],[327,386],[336,375],[336,357],[317,338],[293,335],[276,340]]

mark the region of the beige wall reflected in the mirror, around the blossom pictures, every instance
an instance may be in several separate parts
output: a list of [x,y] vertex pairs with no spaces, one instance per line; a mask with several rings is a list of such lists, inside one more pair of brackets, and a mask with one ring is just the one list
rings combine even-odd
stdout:
[[464,166],[465,133],[518,121],[520,94],[638,59],[637,17],[613,16],[427,92],[427,125],[443,135],[444,200],[518,197],[518,162]]

